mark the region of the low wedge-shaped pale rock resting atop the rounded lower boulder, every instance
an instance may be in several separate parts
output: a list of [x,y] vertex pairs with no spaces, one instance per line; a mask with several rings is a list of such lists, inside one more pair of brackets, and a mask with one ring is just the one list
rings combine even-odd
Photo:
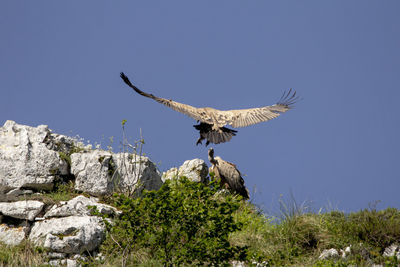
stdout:
[[118,213],[117,209],[106,204],[98,203],[98,199],[85,196],[77,196],[69,201],[61,201],[55,204],[44,215],[45,218],[51,217],[67,217],[67,216],[89,216],[90,210],[88,206],[96,206],[97,210],[102,214]]

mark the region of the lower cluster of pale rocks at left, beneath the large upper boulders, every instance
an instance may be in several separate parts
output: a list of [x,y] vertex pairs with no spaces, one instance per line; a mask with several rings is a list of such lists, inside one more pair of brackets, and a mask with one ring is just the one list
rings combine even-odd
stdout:
[[111,217],[120,213],[95,197],[82,195],[48,207],[37,200],[1,202],[0,217],[5,223],[0,224],[0,242],[18,245],[29,239],[46,248],[49,258],[68,258],[72,264],[76,255],[91,253],[105,238],[103,220],[91,216],[91,207]]

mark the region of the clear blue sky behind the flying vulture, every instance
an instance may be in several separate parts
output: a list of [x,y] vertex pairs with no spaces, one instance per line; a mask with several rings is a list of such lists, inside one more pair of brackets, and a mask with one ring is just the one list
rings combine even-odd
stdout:
[[[314,210],[400,208],[400,2],[1,1],[0,124],[91,143],[131,140],[165,171],[193,158],[195,121],[134,93],[197,107],[303,98],[240,128],[216,155],[246,176],[265,211],[289,197]],[[208,161],[207,161],[208,162]]]

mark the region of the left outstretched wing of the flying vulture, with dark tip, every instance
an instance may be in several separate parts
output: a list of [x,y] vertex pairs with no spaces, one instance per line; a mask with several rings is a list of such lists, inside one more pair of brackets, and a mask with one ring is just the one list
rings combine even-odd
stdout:
[[161,103],[163,105],[166,105],[167,107],[172,108],[175,111],[178,111],[180,113],[183,113],[185,115],[188,115],[189,117],[192,117],[195,120],[198,121],[204,121],[205,122],[205,118],[203,118],[199,112],[198,108],[192,107],[190,105],[186,105],[186,104],[182,104],[182,103],[178,103],[175,102],[173,100],[168,100],[165,98],[160,98],[160,97],[156,97],[155,95],[152,94],[148,94],[145,93],[143,91],[141,91],[139,88],[137,88],[136,86],[134,86],[131,81],[129,81],[128,77],[121,72],[121,78],[122,80],[129,86],[131,87],[133,90],[135,90],[136,93],[145,96],[145,97],[149,97],[151,99],[154,99],[155,101],[157,101],[158,103]]

